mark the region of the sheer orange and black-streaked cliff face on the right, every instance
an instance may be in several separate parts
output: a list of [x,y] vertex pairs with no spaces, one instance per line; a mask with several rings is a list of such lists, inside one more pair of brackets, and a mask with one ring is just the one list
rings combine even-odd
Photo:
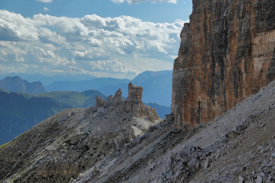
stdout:
[[172,79],[177,128],[212,120],[274,79],[275,2],[193,0]]

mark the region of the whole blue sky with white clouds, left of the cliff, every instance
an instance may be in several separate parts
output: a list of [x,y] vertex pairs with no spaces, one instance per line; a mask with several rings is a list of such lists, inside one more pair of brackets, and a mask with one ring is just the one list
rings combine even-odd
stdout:
[[0,73],[172,70],[191,0],[0,0]]

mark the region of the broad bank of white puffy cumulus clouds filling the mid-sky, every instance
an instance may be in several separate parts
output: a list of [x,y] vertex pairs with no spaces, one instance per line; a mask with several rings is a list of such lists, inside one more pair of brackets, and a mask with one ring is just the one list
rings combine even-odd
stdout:
[[5,72],[12,68],[44,74],[63,70],[98,76],[103,72],[105,77],[121,73],[121,77],[131,78],[153,70],[156,64],[159,69],[172,69],[171,55],[178,53],[184,23],[95,14],[82,18],[36,14],[25,18],[0,10],[0,63],[9,68]]

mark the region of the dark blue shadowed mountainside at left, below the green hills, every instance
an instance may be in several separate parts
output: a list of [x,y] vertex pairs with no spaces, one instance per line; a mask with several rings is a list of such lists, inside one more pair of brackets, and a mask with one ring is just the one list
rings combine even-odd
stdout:
[[40,121],[71,108],[53,98],[30,99],[0,91],[0,144],[11,141]]

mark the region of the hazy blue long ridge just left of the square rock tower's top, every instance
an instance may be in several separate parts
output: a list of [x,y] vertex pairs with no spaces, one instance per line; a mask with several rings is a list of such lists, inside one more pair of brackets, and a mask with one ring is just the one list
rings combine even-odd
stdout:
[[[50,85],[46,85],[45,88],[48,92],[51,91],[77,91],[82,92],[85,90],[91,90],[101,88],[105,85],[114,85],[119,83],[129,83],[129,79],[115,79],[115,78],[96,78],[92,80],[84,81],[56,81]],[[118,90],[118,88],[117,88]],[[116,91],[117,91],[116,90]],[[104,94],[104,93],[103,93]],[[106,94],[104,94],[106,95]],[[114,95],[114,93],[112,93]]]

